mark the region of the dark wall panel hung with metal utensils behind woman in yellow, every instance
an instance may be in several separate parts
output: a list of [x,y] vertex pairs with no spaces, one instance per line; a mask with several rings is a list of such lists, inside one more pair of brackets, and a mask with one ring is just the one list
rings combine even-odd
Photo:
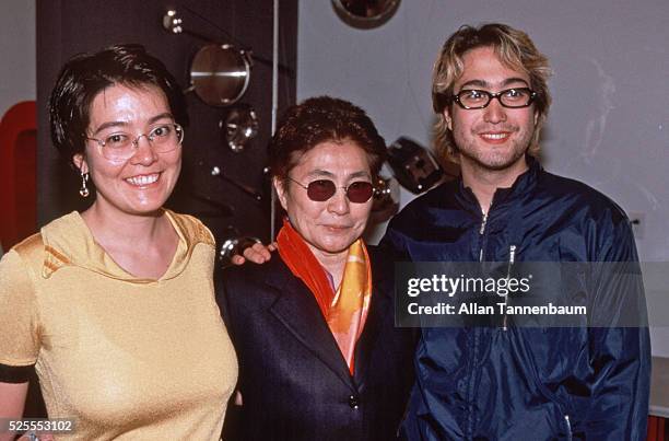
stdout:
[[[208,42],[187,34],[171,34],[162,26],[174,8],[184,27],[216,43],[251,49],[258,58],[272,58],[271,0],[49,0],[37,2],[38,108],[38,224],[66,212],[84,209],[80,179],[58,156],[49,138],[48,96],[62,65],[74,54],[98,50],[116,43],[139,43],[156,56],[186,89],[190,62]],[[295,100],[297,0],[280,2],[279,114]],[[198,216],[216,235],[269,237],[269,183],[263,176],[266,148],[271,136],[271,66],[256,59],[250,83],[237,103],[250,104],[260,121],[258,136],[239,153],[227,148],[219,121],[231,107],[212,107],[195,93],[187,94],[190,125],[184,142],[184,167],[168,206]],[[261,192],[258,202],[234,185],[211,175],[223,173]],[[92,198],[89,198],[92,199]],[[211,202],[203,200],[210,199]],[[221,205],[232,208],[232,212]]]

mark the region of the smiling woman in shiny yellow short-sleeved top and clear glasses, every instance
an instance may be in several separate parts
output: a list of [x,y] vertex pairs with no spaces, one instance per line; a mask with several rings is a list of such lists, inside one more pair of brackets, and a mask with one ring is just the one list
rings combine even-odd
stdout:
[[0,417],[21,417],[34,365],[75,439],[219,439],[237,364],[214,242],[162,208],[181,166],[179,86],[141,46],[113,46],[66,63],[50,117],[79,193],[96,196],[0,262]]

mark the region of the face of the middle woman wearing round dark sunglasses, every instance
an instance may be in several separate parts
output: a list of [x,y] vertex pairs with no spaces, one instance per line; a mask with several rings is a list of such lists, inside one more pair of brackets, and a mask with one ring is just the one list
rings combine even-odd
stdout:
[[341,187],[360,181],[372,182],[367,154],[348,140],[321,142],[300,158],[289,176],[305,186],[317,179],[334,182],[337,193],[322,202],[310,200],[307,190],[290,179],[282,182],[274,178],[274,186],[291,225],[302,235],[316,258],[321,262],[324,257],[332,255],[345,258],[349,246],[365,230],[372,198],[363,204],[353,204]]

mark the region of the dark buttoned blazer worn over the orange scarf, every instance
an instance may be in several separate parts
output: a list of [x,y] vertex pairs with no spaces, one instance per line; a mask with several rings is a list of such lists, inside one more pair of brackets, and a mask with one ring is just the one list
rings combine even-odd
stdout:
[[278,253],[216,276],[244,399],[240,433],[224,439],[396,439],[413,384],[416,333],[395,327],[392,263],[373,247],[369,254],[374,291],[353,376],[314,294]]

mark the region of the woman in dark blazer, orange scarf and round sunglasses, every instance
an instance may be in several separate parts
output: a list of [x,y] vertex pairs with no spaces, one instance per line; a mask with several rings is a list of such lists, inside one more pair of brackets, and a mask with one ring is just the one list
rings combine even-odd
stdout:
[[287,213],[279,252],[216,277],[242,403],[240,433],[224,438],[396,438],[415,338],[394,325],[392,263],[361,240],[384,158],[383,138],[351,103],[316,97],[284,116],[270,144]]

